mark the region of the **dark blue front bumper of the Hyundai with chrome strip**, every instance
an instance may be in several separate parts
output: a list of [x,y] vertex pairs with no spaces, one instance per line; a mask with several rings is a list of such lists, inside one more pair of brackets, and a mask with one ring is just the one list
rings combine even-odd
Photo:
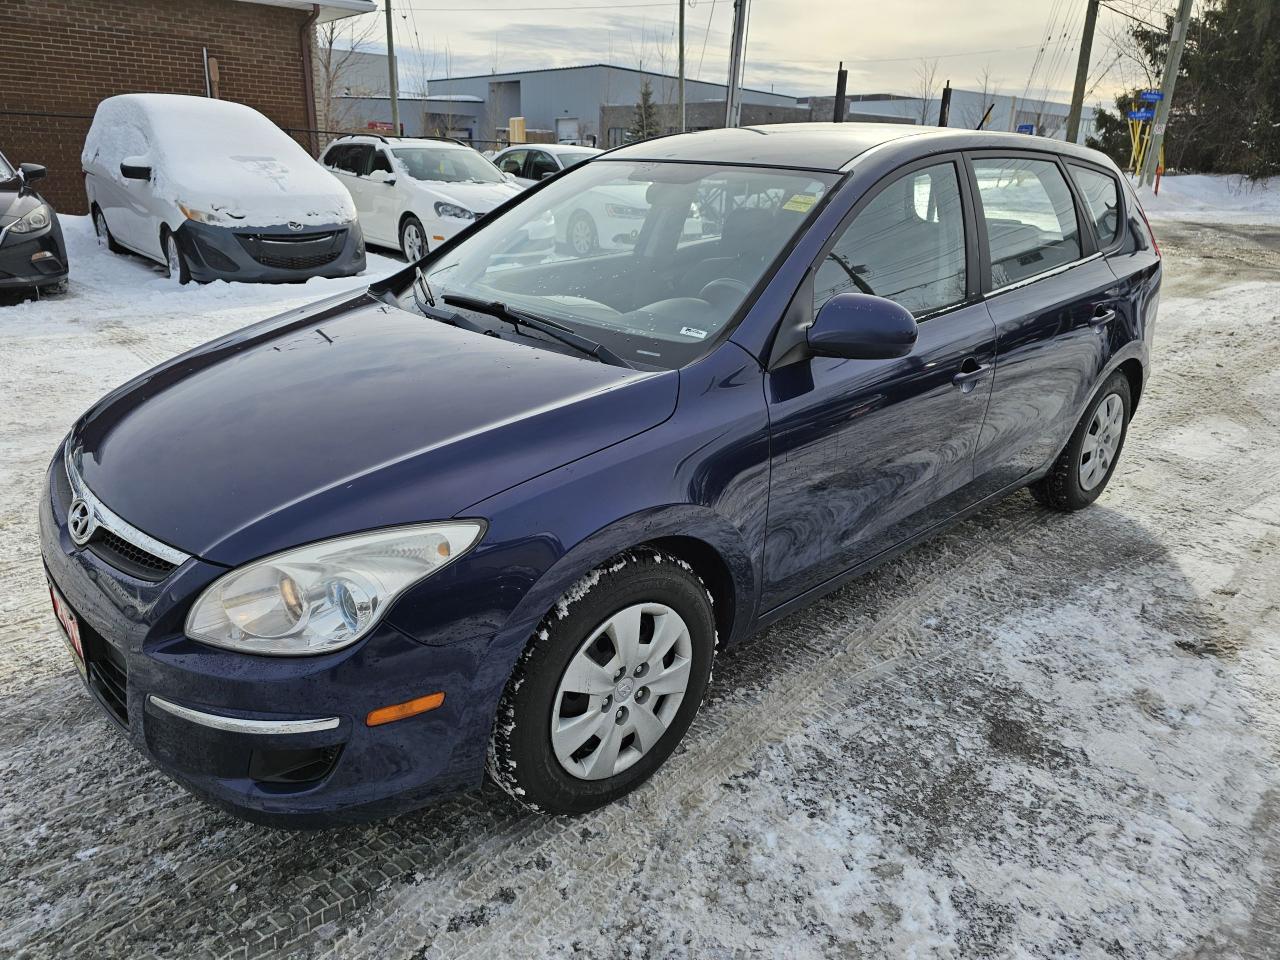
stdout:
[[[294,828],[385,817],[480,782],[492,717],[468,707],[488,637],[429,646],[384,622],[320,657],[197,644],[182,634],[187,611],[225,570],[192,558],[151,582],[77,548],[60,471],[61,453],[41,499],[41,552],[79,621],[86,685],[170,777],[238,817]],[[52,636],[50,648],[68,655]],[[365,723],[372,709],[436,691],[435,710]]]

